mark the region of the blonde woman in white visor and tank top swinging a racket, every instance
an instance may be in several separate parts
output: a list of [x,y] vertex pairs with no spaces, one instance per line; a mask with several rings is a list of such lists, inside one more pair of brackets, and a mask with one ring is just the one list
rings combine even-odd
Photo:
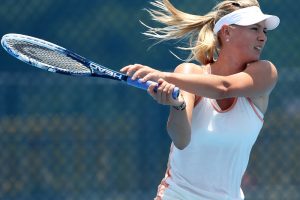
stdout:
[[[148,92],[171,107],[171,152],[156,199],[244,199],[242,176],[277,82],[275,66],[260,54],[279,18],[263,14],[256,0],[225,0],[205,16],[181,12],[168,0],[152,4],[158,10],[148,10],[151,16],[166,26],[146,34],[190,37],[189,58],[202,64],[183,63],[174,73],[139,64],[121,70],[157,81],[157,91],[151,85]],[[174,85],[181,89],[177,100]]]

